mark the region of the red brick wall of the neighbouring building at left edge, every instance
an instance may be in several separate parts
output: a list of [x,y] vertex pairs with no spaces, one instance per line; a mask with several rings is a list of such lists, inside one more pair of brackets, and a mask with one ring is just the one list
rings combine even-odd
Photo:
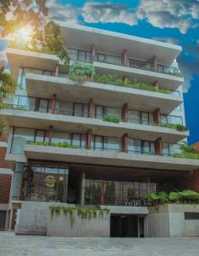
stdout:
[[[6,142],[4,137],[0,137],[0,142]],[[9,168],[5,161],[6,148],[0,147],[0,168]],[[9,203],[9,191],[12,176],[10,174],[1,174],[0,172],[0,204]]]

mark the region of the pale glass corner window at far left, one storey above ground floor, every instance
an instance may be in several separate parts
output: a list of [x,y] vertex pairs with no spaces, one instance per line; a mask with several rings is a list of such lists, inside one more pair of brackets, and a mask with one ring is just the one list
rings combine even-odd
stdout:
[[35,131],[27,128],[14,128],[14,138],[11,148],[12,154],[23,154],[27,142],[34,141]]

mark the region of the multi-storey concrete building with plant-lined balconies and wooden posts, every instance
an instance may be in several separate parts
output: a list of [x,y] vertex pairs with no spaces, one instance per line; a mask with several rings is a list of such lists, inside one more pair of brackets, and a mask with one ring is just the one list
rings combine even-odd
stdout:
[[[6,160],[14,170],[9,227],[14,209],[21,208],[25,219],[25,202],[31,201],[32,213],[39,212],[35,201],[40,207],[59,201],[110,207],[111,236],[147,236],[145,196],[179,189],[199,165],[173,157],[189,136],[172,126],[185,125],[184,79],[174,62],[181,47],[86,26],[60,27],[71,63],[89,62],[96,74],[117,74],[157,90],[77,83],[54,55],[7,49],[20,84],[13,108],[0,110],[9,127]],[[120,122],[106,122],[105,115]],[[65,142],[71,146],[55,144]]]

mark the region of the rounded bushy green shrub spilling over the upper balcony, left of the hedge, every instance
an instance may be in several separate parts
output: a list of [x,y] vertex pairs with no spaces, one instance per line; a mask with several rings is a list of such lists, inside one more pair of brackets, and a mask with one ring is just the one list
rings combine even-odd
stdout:
[[77,82],[85,82],[94,78],[94,65],[90,63],[83,63],[75,61],[69,69],[68,77]]

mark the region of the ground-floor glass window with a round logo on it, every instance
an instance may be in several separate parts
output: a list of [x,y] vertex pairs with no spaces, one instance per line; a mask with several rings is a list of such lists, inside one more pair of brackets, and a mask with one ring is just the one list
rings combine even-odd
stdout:
[[27,165],[24,169],[24,198],[30,201],[66,202],[67,183],[67,168]]

